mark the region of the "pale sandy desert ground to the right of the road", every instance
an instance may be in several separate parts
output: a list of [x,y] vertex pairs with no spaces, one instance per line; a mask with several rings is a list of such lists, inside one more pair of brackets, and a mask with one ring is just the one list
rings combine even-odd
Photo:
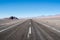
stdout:
[[44,23],[51,27],[55,27],[56,29],[60,30],[60,17],[47,17],[47,18],[36,18],[34,19],[36,22]]

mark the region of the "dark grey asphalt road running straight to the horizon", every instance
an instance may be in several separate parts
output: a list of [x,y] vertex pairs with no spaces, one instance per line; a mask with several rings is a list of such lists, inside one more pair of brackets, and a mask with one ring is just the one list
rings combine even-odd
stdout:
[[60,32],[29,19],[0,28],[0,40],[60,40]]

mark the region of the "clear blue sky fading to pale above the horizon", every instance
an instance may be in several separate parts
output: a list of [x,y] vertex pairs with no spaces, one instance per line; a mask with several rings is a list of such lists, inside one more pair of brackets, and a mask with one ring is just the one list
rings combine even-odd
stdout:
[[60,14],[59,0],[0,0],[0,18]]

